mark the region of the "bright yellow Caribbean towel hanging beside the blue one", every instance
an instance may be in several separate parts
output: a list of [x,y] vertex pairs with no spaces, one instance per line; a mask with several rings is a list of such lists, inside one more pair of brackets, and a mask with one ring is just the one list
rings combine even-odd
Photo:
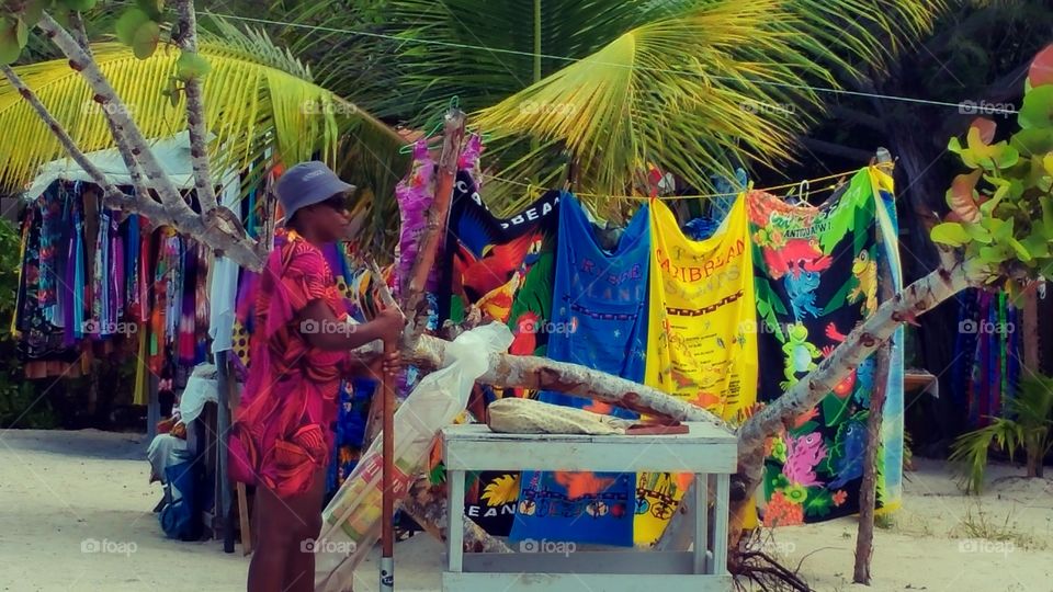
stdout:
[[[739,421],[756,400],[752,252],[745,201],[705,240],[683,236],[672,212],[650,204],[652,255],[645,384]],[[641,474],[637,546],[661,535],[690,474]]]

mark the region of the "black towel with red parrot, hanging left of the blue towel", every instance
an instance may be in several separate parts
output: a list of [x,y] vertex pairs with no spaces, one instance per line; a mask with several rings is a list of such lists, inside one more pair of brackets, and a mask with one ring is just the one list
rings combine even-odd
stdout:
[[[553,272],[561,192],[550,191],[523,212],[497,218],[486,207],[475,179],[457,172],[438,294],[439,323],[461,321],[476,305],[507,322],[514,334],[509,352],[544,355],[552,308]],[[525,397],[522,390],[497,392]],[[432,473],[438,473],[438,467]],[[474,477],[472,479],[471,477]],[[508,536],[519,498],[518,471],[487,470],[469,476],[465,514],[495,536]]]

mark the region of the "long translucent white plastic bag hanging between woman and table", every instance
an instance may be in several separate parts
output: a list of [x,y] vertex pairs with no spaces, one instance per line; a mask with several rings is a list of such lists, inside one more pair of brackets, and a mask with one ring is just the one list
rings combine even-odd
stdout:
[[[488,366],[491,352],[512,343],[508,327],[477,327],[449,344],[443,367],[420,380],[395,412],[396,508],[424,468],[439,431],[464,411],[472,385]],[[381,534],[383,439],[377,436],[351,476],[322,512],[321,534],[314,544],[315,589],[350,588],[354,569],[365,559]]]

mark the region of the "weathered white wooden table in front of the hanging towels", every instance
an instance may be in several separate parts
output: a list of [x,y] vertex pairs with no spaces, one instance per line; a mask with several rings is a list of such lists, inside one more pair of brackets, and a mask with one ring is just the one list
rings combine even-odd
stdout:
[[[736,469],[734,434],[709,423],[688,423],[676,435],[498,434],[483,424],[442,431],[450,486],[448,570],[443,592],[727,591],[728,488]],[[641,451],[646,447],[646,454]],[[612,550],[564,553],[463,553],[465,473],[471,470],[581,470],[693,473],[694,545],[691,551]],[[713,536],[706,500],[715,480]],[[454,517],[456,516],[456,517]],[[632,577],[626,577],[626,576]]]

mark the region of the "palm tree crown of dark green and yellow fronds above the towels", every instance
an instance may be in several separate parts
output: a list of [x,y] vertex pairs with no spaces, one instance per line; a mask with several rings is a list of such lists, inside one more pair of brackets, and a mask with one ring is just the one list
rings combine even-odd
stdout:
[[[299,21],[363,33],[327,64],[346,72],[369,55],[395,92],[360,94],[361,76],[336,82],[337,92],[417,126],[456,95],[494,134],[488,162],[498,177],[561,184],[557,164],[569,157],[580,167],[577,189],[615,195],[633,190],[646,162],[702,187],[734,160],[791,158],[824,99],[808,84],[837,87],[880,69],[944,8],[925,0],[392,0],[363,19],[341,13],[342,4],[318,2]],[[328,43],[298,49],[317,54]],[[524,205],[524,193],[488,186],[501,210]]]

